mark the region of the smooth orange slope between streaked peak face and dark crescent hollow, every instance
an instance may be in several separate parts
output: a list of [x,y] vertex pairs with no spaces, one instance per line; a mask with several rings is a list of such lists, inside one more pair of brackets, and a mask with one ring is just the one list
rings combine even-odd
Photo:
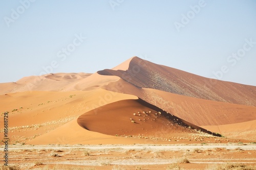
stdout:
[[[118,86],[118,85],[122,86]],[[116,88],[118,86],[119,88]],[[120,79],[106,90],[133,94],[197,126],[225,125],[256,119],[256,107],[192,98],[150,88],[139,88]]]

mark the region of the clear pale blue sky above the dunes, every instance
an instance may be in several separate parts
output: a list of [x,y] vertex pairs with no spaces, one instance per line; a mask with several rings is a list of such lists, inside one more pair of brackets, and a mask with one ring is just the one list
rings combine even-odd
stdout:
[[2,0],[0,29],[0,83],[138,56],[256,86],[254,0]]

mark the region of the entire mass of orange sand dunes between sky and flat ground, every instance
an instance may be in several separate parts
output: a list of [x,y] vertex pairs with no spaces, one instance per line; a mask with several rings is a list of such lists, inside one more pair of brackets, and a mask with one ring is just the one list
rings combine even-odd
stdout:
[[1,112],[9,111],[12,143],[193,143],[215,142],[220,134],[256,140],[255,86],[138,57],[94,74],[0,83],[0,100]]

